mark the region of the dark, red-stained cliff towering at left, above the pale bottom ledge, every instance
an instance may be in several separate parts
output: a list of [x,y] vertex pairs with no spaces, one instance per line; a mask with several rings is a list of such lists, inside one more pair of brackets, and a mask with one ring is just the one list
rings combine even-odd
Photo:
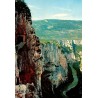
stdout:
[[15,50],[15,84],[29,83],[34,88],[31,92],[39,92],[42,73],[40,40],[32,27],[30,9],[23,0],[15,1]]

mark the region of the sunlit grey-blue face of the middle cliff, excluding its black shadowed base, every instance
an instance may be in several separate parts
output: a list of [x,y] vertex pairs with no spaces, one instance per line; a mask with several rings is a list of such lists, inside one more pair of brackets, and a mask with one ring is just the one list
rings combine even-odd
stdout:
[[42,55],[44,71],[49,71],[51,74],[49,80],[53,85],[58,86],[67,77],[67,61],[60,49],[51,43],[42,45]]

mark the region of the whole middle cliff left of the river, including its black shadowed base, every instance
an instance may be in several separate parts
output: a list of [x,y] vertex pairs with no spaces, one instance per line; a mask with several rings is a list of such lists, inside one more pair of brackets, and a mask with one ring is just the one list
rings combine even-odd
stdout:
[[67,60],[61,53],[61,49],[54,43],[41,44],[41,50],[43,56],[42,94],[43,98],[49,98],[55,95],[55,89],[67,79]]

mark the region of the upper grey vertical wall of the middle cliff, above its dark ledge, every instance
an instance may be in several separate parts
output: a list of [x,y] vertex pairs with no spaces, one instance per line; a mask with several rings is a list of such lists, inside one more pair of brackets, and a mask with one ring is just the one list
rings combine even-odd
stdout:
[[67,66],[66,57],[61,53],[59,49],[53,43],[41,44],[42,56],[44,64],[52,62],[55,65]]

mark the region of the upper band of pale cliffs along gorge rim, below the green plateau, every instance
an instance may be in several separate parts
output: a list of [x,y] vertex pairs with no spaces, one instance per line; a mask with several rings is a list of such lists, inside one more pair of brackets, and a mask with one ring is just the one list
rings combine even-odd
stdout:
[[44,65],[48,62],[52,62],[55,65],[61,65],[67,68],[67,63],[74,62],[75,60],[81,61],[81,46],[80,40],[42,42],[41,50]]

